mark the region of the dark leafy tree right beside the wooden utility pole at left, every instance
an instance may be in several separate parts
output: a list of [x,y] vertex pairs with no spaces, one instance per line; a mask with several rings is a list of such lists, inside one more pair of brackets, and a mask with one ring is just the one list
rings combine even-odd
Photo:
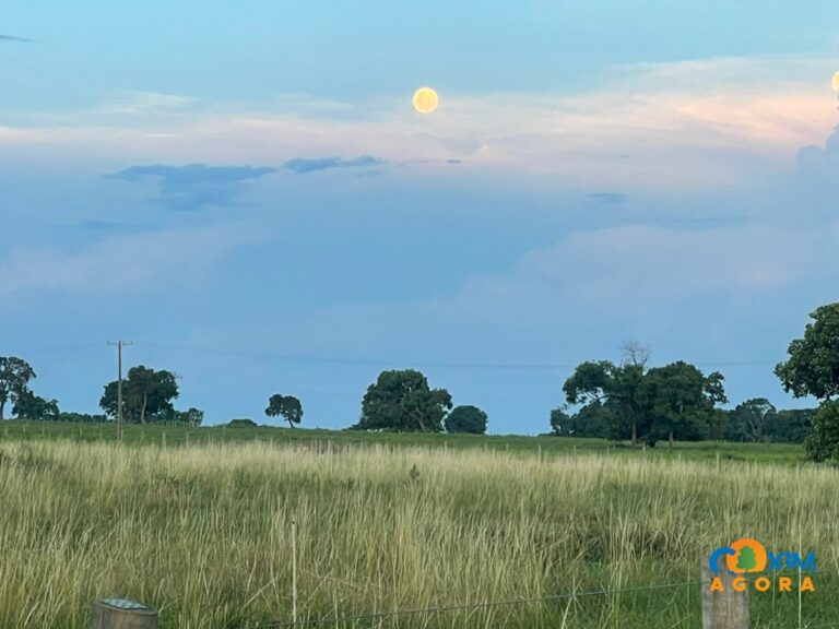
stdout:
[[[178,382],[172,371],[150,369],[143,365],[128,370],[122,381],[122,416],[126,422],[145,424],[172,416],[173,400],[179,395]],[[118,414],[118,382],[109,382],[99,406],[110,417]]]

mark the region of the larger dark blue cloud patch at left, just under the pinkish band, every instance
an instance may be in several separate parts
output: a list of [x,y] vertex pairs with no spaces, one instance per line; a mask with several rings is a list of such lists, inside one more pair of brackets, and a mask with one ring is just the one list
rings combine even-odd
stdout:
[[154,182],[157,186],[156,201],[176,210],[198,210],[205,206],[233,204],[245,190],[245,185],[275,168],[253,166],[132,166],[106,175],[108,179],[120,179],[132,183]]

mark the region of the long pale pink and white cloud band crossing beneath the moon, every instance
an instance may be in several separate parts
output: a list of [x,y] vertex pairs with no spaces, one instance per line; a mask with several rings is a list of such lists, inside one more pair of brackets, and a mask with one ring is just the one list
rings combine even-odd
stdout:
[[[829,60],[732,58],[616,68],[577,93],[451,94],[434,116],[404,99],[364,104],[283,100],[191,107],[134,95],[90,110],[0,128],[0,153],[74,151],[133,163],[283,163],[304,175],[375,166],[387,155],[413,173],[469,162],[470,174],[541,178],[589,190],[733,189],[772,180],[803,145],[836,124]],[[599,83],[598,83],[599,81]],[[121,112],[120,112],[121,111]],[[139,117],[137,111],[153,112]],[[356,115],[357,114],[357,115]],[[299,155],[362,155],[299,157]],[[623,158],[631,155],[631,159]]]

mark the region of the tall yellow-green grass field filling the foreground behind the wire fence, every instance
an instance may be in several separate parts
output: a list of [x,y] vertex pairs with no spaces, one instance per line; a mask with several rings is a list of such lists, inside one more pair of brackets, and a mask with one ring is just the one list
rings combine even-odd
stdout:
[[[288,620],[292,521],[307,619],[692,582],[746,535],[839,565],[839,473],[797,448],[111,428],[2,427],[0,626],[86,627],[99,596],[164,629]],[[804,627],[839,620],[815,580]],[[314,626],[698,628],[699,590]],[[753,626],[797,627],[797,602],[755,594]]]

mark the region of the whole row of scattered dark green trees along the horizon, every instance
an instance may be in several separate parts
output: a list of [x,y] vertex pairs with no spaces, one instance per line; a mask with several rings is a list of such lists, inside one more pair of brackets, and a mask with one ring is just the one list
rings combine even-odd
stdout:
[[[789,357],[775,373],[795,397],[814,396],[818,408],[779,411],[763,397],[728,403],[724,377],[704,373],[677,360],[649,367],[649,351],[637,343],[624,347],[624,359],[580,364],[564,382],[565,404],[551,412],[554,435],[601,437],[673,444],[676,440],[804,442],[814,461],[839,460],[839,304],[811,313],[804,335],[793,340]],[[73,422],[114,420],[118,414],[118,383],[105,385],[99,406],[104,415],[63,413],[56,400],[29,389],[35,371],[23,359],[0,357],[0,420],[7,404],[25,419]],[[198,426],[203,412],[177,411],[177,378],[167,370],[132,367],[122,382],[122,416],[128,423],[178,423]],[[264,411],[291,427],[303,420],[303,404],[294,395],[273,394]],[[382,371],[362,400],[355,430],[484,434],[487,414],[473,405],[454,407],[446,389],[433,389],[414,369]]]

